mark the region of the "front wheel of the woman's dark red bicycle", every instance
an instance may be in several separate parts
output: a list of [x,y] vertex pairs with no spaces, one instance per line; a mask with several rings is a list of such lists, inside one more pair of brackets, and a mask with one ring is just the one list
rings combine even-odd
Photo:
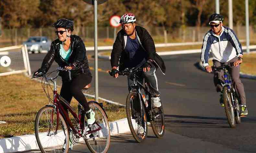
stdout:
[[36,116],[35,135],[37,144],[43,153],[67,153],[69,148],[69,132],[64,118],[59,113],[57,127],[57,114],[52,106],[42,107]]

